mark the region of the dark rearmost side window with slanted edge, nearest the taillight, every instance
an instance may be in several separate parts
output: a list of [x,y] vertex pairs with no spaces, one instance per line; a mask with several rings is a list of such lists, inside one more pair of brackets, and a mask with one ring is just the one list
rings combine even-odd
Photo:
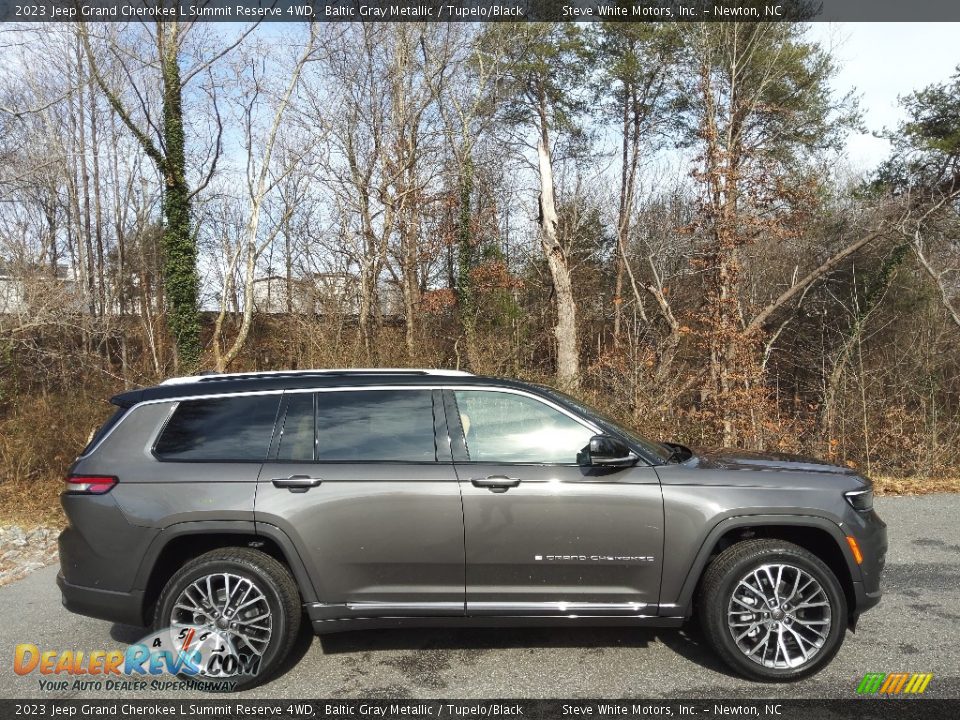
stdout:
[[184,400],[154,448],[164,460],[263,461],[279,395]]

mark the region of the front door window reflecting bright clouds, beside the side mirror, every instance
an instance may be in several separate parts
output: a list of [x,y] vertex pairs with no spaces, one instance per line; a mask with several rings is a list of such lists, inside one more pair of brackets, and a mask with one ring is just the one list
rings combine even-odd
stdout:
[[457,390],[467,452],[475,462],[576,463],[593,432],[539,400]]

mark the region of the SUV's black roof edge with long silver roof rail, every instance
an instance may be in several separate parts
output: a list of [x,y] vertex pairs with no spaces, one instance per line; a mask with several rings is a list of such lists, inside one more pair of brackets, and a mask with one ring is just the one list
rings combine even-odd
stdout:
[[206,374],[154,385],[140,390],[129,390],[114,395],[110,402],[119,407],[133,407],[145,400],[221,395],[229,393],[264,392],[268,390],[302,390],[310,388],[363,387],[366,385],[484,385],[535,389],[520,380],[484,375],[442,374],[429,370],[298,370],[289,373]]

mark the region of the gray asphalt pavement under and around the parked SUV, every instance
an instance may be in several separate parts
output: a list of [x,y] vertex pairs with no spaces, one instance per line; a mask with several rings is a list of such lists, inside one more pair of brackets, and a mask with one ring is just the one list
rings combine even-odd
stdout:
[[[880,605],[837,657],[807,680],[730,674],[696,631],[623,628],[358,631],[304,635],[285,671],[250,698],[820,698],[854,697],[867,672],[929,672],[925,695],[960,697],[960,495],[878,498],[890,550]],[[0,587],[0,697],[131,697],[41,691],[13,672],[14,647],[114,650],[142,628],[68,613],[56,568]],[[48,678],[49,679],[49,678]],[[154,691],[157,699],[170,693]],[[183,692],[182,697],[203,697]],[[148,693],[137,697],[150,699]]]

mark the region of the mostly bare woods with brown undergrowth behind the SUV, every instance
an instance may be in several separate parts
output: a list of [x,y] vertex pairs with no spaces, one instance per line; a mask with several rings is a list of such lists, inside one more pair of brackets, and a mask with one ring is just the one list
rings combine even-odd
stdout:
[[960,70],[890,157],[794,23],[0,29],[0,468],[171,374],[457,367],[960,466]]

